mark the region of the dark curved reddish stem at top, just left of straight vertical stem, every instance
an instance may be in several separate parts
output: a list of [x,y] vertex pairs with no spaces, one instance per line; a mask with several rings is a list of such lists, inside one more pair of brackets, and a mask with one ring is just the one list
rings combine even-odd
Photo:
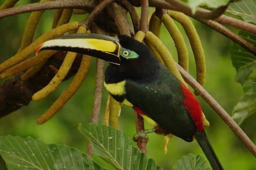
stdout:
[[136,33],[137,31],[139,31],[139,18],[137,17],[136,11],[133,5],[128,0],[122,0],[121,3],[128,10],[133,22],[134,32]]

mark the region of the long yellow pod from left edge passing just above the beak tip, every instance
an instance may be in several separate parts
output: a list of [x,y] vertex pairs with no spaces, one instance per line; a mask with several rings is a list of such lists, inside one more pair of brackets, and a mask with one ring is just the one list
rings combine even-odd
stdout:
[[78,28],[78,22],[71,22],[48,31],[47,33],[37,38],[34,42],[32,42],[32,44],[23,49],[21,52],[0,64],[0,72],[3,72],[5,69],[8,69],[9,67],[23,61],[25,58],[30,56],[30,54],[34,53],[34,51],[42,42],[45,42],[54,36],[60,36],[76,28]]

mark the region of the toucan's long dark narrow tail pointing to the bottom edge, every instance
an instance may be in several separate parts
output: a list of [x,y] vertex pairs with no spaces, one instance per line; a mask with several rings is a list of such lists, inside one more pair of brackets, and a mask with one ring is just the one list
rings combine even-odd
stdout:
[[197,139],[213,170],[224,170],[204,130],[200,134],[195,134],[194,137]]

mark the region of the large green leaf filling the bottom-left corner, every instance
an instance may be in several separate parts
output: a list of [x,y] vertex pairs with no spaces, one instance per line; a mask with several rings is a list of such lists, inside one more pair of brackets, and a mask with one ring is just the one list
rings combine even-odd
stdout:
[[105,170],[75,148],[31,137],[0,136],[0,154],[9,170]]

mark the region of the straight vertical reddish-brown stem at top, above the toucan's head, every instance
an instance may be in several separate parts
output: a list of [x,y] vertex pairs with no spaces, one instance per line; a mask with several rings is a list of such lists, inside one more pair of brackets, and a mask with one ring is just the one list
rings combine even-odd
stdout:
[[139,30],[146,33],[147,23],[148,23],[148,14],[149,14],[149,1],[148,0],[140,0],[141,2],[141,16],[139,22]]

